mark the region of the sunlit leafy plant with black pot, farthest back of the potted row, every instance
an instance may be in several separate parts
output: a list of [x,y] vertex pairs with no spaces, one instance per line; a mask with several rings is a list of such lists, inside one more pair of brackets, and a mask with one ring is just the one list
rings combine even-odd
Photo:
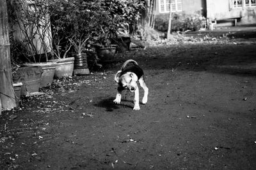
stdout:
[[[103,0],[102,6],[109,11],[111,17],[111,43],[115,43],[118,52],[129,50],[132,36],[136,37],[141,11],[145,8],[145,1]],[[104,24],[103,24],[104,25]],[[134,39],[133,39],[134,40]]]

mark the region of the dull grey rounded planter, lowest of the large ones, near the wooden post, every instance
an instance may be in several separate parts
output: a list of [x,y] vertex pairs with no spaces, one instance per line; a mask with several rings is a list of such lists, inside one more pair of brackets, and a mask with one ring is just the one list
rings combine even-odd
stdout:
[[[16,73],[13,74],[13,82],[22,83],[20,87],[21,96],[38,92],[42,73],[42,67],[38,66],[19,67],[19,69],[17,69]],[[18,89],[19,87],[17,87],[17,90]]]

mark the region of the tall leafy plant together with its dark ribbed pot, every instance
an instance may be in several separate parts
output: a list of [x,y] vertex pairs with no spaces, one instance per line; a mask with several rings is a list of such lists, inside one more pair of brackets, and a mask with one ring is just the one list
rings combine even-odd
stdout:
[[[58,1],[58,0],[56,0]],[[86,51],[95,43],[94,34],[100,29],[99,21],[107,16],[100,7],[100,1],[58,1],[59,8],[52,14],[64,23],[61,30],[65,40],[72,45],[71,52],[74,60],[74,74],[88,74]],[[61,15],[60,15],[61,13]],[[63,18],[61,18],[61,16]]]

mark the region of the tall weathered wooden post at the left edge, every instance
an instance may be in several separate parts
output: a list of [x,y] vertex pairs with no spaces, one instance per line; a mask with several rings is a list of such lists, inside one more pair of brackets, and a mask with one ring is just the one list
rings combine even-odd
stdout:
[[12,84],[12,66],[6,0],[0,0],[0,101],[3,110],[16,107]]

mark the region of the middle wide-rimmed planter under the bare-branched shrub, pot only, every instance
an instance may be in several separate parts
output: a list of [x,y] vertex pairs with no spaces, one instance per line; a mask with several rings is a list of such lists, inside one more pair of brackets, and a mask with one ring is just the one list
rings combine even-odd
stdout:
[[43,69],[40,87],[51,85],[56,69],[56,62],[26,63],[24,66],[40,66]]

